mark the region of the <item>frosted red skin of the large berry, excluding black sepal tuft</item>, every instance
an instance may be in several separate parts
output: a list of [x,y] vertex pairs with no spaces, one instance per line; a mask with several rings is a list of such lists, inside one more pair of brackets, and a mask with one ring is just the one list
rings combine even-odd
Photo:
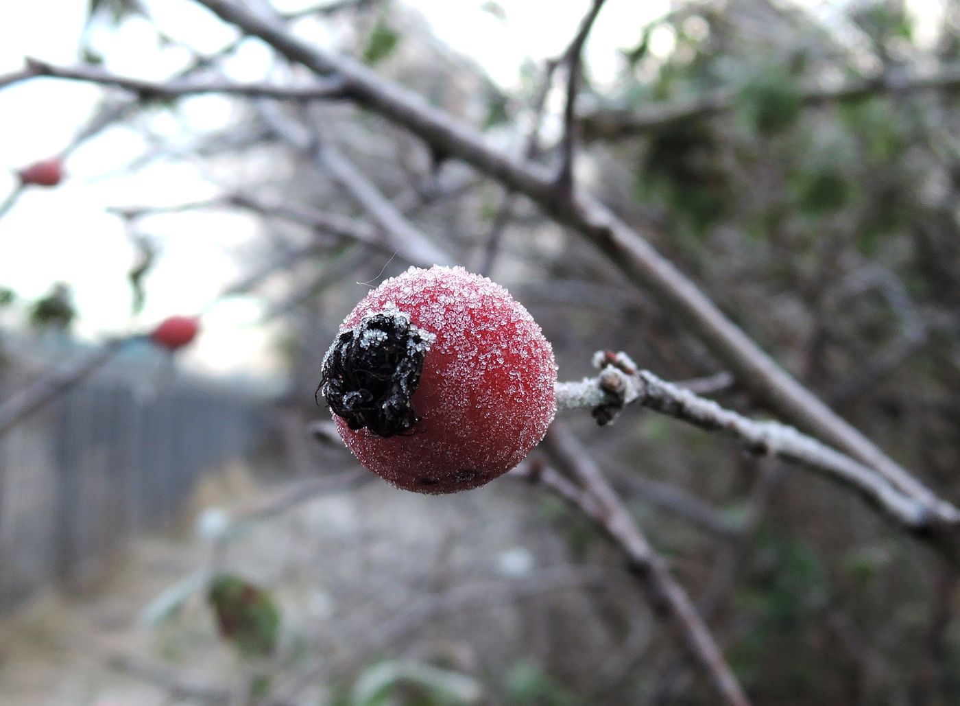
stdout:
[[420,421],[384,438],[334,415],[349,449],[397,488],[431,495],[476,488],[514,468],[557,409],[557,366],[537,323],[506,289],[462,267],[411,267],[357,304],[341,332],[389,304],[436,335],[412,398]]

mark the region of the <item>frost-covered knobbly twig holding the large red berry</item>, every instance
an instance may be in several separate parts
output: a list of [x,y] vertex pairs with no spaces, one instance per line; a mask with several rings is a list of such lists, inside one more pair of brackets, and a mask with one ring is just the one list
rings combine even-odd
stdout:
[[913,532],[924,534],[937,525],[946,523],[954,527],[960,523],[960,513],[948,502],[936,506],[937,514],[931,513],[924,502],[895,488],[875,469],[792,426],[772,421],[757,422],[725,409],[691,390],[660,379],[650,371],[638,370],[625,353],[597,353],[594,363],[601,368],[597,377],[558,383],[559,409],[588,407],[603,425],[612,422],[626,405],[638,404],[693,426],[730,436],[752,452],[792,461],[852,487],[883,514]]

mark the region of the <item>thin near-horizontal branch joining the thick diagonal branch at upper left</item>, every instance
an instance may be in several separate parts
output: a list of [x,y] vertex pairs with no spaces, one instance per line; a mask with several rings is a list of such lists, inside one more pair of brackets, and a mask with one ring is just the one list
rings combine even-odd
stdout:
[[[37,77],[81,81],[88,84],[112,85],[136,93],[140,100],[172,98],[201,93],[223,93],[257,98],[273,98],[281,101],[315,101],[344,97],[344,84],[336,78],[315,82],[312,85],[281,86],[270,84],[231,84],[227,81],[197,81],[194,79],[170,79],[147,81],[131,76],[119,76],[96,66],[55,66],[46,61],[27,60],[27,70],[15,80],[24,81]],[[0,79],[2,81],[2,79]],[[8,81],[12,83],[12,81]],[[0,85],[3,85],[0,83]]]

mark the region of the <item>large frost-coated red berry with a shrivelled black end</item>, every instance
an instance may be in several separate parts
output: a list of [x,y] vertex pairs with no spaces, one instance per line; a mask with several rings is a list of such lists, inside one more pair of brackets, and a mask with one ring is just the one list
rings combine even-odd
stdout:
[[340,331],[318,393],[360,463],[398,488],[481,486],[553,421],[550,343],[506,289],[462,267],[384,281]]

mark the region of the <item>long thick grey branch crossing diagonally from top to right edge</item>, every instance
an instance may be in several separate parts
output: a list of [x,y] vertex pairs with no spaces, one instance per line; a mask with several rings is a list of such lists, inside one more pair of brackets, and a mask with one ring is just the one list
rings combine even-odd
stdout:
[[433,149],[460,158],[492,179],[540,205],[556,222],[581,233],[610,257],[630,280],[644,287],[680,324],[698,335],[732,374],[762,402],[829,443],[874,466],[904,493],[931,508],[942,504],[916,477],[840,418],[764,353],[742,329],[633,228],[596,199],[577,190],[570,198],[540,166],[519,163],[488,145],[482,135],[454,121],[419,95],[378,76],[347,57],[322,52],[292,37],[276,20],[254,14],[228,0],[196,0],[245,33],[260,37],[291,61],[347,84],[349,97],[419,135]]

